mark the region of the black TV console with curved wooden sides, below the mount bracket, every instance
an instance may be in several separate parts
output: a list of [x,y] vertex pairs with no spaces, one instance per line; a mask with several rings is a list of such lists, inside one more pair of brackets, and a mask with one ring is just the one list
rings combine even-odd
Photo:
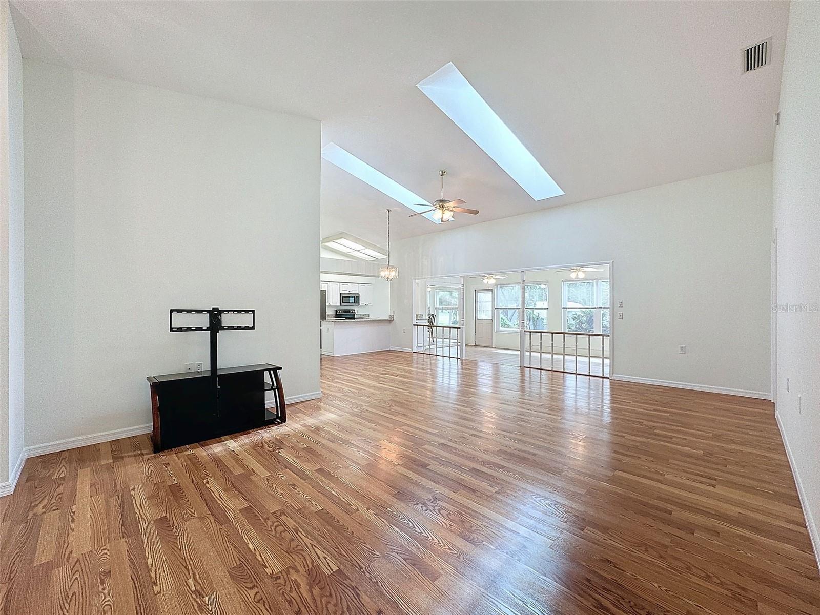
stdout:
[[[221,368],[216,372],[219,403],[214,403],[210,370],[148,376],[154,452],[284,423],[280,370],[270,363]],[[275,406],[265,408],[265,392],[271,390]]]

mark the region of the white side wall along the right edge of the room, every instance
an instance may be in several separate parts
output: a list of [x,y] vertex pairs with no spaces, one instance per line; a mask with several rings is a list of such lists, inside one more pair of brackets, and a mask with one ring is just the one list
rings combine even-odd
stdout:
[[[777,418],[820,560],[820,2],[792,2],[775,138]],[[804,307],[808,306],[809,311]],[[786,390],[786,378],[790,390]],[[800,403],[798,400],[800,397]],[[802,408],[799,408],[802,406]],[[801,411],[802,410],[802,411]]]

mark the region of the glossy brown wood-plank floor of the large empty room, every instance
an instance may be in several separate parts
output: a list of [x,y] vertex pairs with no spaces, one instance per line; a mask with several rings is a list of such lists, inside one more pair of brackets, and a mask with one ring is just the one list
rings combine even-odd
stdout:
[[409,353],[321,370],[285,426],[28,460],[0,613],[820,613],[771,403]]

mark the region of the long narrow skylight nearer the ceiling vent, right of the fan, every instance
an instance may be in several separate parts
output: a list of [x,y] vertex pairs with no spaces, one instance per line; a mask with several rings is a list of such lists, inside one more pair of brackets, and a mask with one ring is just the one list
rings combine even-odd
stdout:
[[453,62],[417,87],[536,201],[564,194]]

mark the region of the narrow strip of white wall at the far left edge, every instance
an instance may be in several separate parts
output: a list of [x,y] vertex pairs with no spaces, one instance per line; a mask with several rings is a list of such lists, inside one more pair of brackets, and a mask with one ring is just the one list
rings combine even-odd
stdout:
[[16,481],[23,439],[22,58],[0,2],[0,492]]

